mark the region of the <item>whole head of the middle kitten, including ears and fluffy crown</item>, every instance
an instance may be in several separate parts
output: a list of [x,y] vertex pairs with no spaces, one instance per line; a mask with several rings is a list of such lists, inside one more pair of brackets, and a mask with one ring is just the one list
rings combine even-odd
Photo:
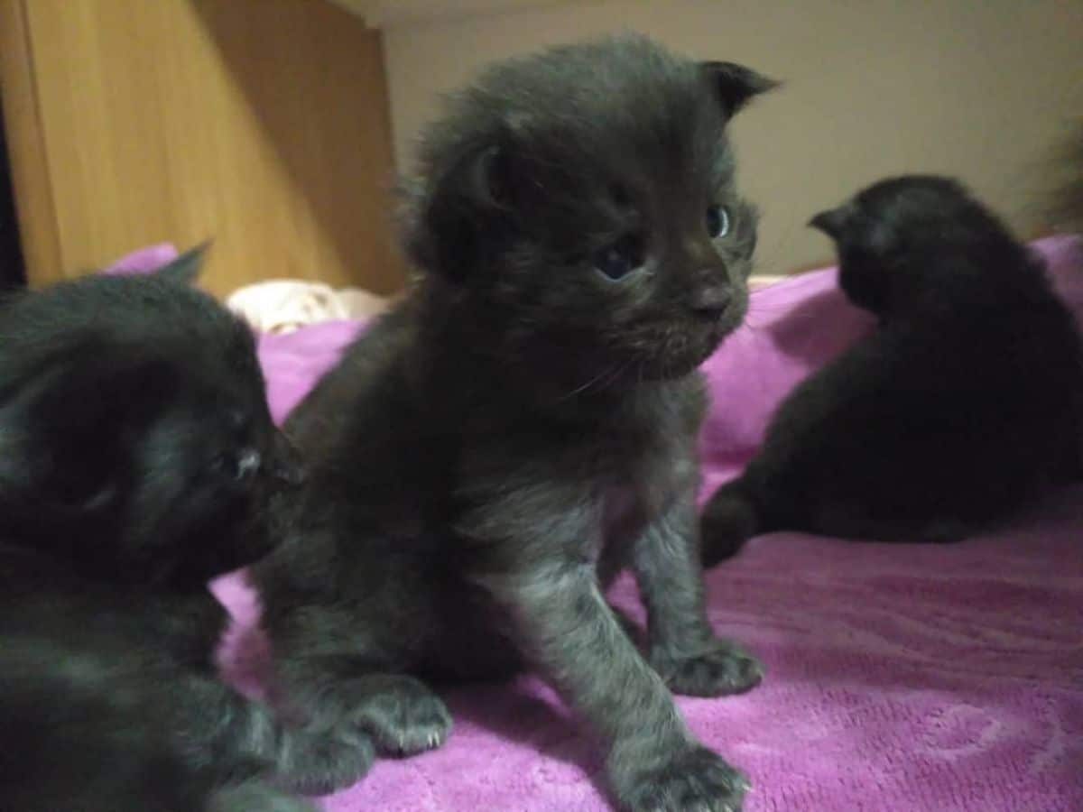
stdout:
[[499,66],[430,132],[414,258],[519,357],[684,375],[747,306],[756,215],[725,126],[771,84],[638,38]]

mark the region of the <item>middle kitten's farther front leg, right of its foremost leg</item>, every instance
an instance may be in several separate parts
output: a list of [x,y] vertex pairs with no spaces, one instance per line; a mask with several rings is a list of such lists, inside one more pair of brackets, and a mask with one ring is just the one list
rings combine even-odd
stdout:
[[760,664],[733,641],[715,637],[707,620],[691,493],[636,540],[631,563],[647,605],[651,665],[674,692],[720,696],[759,683]]

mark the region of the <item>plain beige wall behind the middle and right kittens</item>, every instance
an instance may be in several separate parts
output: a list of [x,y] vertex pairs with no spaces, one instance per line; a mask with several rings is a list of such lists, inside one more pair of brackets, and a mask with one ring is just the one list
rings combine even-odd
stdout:
[[479,65],[621,27],[785,80],[733,125],[760,273],[826,260],[809,215],[888,173],[960,175],[1023,235],[1047,226],[1051,155],[1083,114],[1080,0],[624,1],[390,26],[399,165]]

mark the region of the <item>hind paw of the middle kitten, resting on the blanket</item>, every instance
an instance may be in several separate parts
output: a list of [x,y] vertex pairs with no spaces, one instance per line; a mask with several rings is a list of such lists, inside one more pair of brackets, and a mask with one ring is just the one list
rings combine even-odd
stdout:
[[452,730],[444,702],[405,675],[382,678],[379,689],[354,707],[350,722],[371,735],[380,752],[392,756],[440,747]]

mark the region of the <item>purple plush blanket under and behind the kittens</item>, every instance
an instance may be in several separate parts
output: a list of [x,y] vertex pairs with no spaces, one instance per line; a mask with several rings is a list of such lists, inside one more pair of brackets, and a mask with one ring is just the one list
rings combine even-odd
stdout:
[[[1038,244],[1083,314],[1081,248]],[[788,389],[869,327],[835,290],[833,270],[754,294],[746,327],[705,365],[715,403],[705,493],[747,459]],[[261,340],[276,417],[358,328]],[[695,734],[752,776],[747,812],[1080,812],[1081,535],[1083,487],[956,546],[758,538],[707,584],[715,627],[747,643],[767,678],[745,696],[677,702]],[[237,618],[223,665],[255,690],[265,644],[252,630],[253,597],[236,576],[214,589]],[[613,598],[642,618],[629,580]],[[379,761],[324,808],[609,809],[598,748],[538,680],[446,698],[455,729],[442,749]]]

